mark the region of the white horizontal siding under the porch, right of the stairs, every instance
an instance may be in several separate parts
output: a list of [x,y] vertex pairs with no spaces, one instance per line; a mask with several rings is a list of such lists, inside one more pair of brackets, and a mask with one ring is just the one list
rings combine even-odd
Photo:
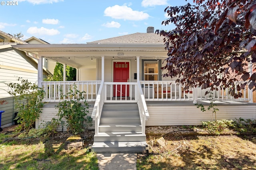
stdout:
[[[206,107],[206,106],[205,106]],[[217,119],[256,119],[256,105],[217,106]],[[148,106],[146,126],[202,125],[201,121],[215,120],[212,111],[200,111],[196,106]]]

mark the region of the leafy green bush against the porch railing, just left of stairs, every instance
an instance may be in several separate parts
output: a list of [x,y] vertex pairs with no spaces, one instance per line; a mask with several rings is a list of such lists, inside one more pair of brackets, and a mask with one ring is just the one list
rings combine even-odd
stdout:
[[[76,85],[70,87],[69,92],[65,95],[61,95],[62,102],[58,103],[58,113],[59,120],[62,118],[66,119],[67,130],[71,131],[74,134],[82,133],[85,128],[84,121],[88,121],[86,119],[86,113],[88,113],[88,103],[84,100],[85,92],[80,92],[77,90]],[[62,91],[61,91],[62,94]],[[82,102],[84,101],[84,102]],[[82,103],[84,106],[82,106]]]

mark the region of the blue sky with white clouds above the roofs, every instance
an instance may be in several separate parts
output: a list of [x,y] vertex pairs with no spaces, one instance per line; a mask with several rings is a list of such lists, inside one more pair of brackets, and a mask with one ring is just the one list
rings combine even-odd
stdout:
[[0,30],[22,33],[51,44],[86,43],[136,32],[166,20],[167,6],[180,6],[192,0],[18,0],[7,5],[1,0]]

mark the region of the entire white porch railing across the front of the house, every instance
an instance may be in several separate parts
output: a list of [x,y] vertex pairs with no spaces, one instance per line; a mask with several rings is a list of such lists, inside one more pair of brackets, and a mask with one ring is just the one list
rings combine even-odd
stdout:
[[[65,98],[65,94],[74,87],[79,91],[85,91],[84,99],[88,102],[96,101],[101,81],[59,81],[42,82],[45,91],[44,102],[60,102],[61,100],[72,99],[71,96]],[[205,95],[207,89],[190,88],[184,90],[181,84],[175,81],[140,81],[142,93],[146,101],[194,101],[209,100],[209,95]],[[137,102],[138,85],[136,82],[104,82],[104,102]],[[235,92],[237,88],[234,87]],[[212,99],[218,101],[245,101],[252,102],[252,90],[248,88],[240,90],[242,98],[234,98],[228,94],[229,88],[212,91]],[[64,96],[64,98],[62,98]],[[74,97],[74,96],[73,96]]]

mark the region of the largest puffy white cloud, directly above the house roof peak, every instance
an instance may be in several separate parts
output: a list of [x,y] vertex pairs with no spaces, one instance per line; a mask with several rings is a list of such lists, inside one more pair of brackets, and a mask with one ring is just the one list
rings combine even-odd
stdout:
[[146,20],[150,16],[147,13],[141,11],[134,11],[128,6],[111,6],[105,9],[104,16],[109,16],[114,19],[123,19],[123,20]]

